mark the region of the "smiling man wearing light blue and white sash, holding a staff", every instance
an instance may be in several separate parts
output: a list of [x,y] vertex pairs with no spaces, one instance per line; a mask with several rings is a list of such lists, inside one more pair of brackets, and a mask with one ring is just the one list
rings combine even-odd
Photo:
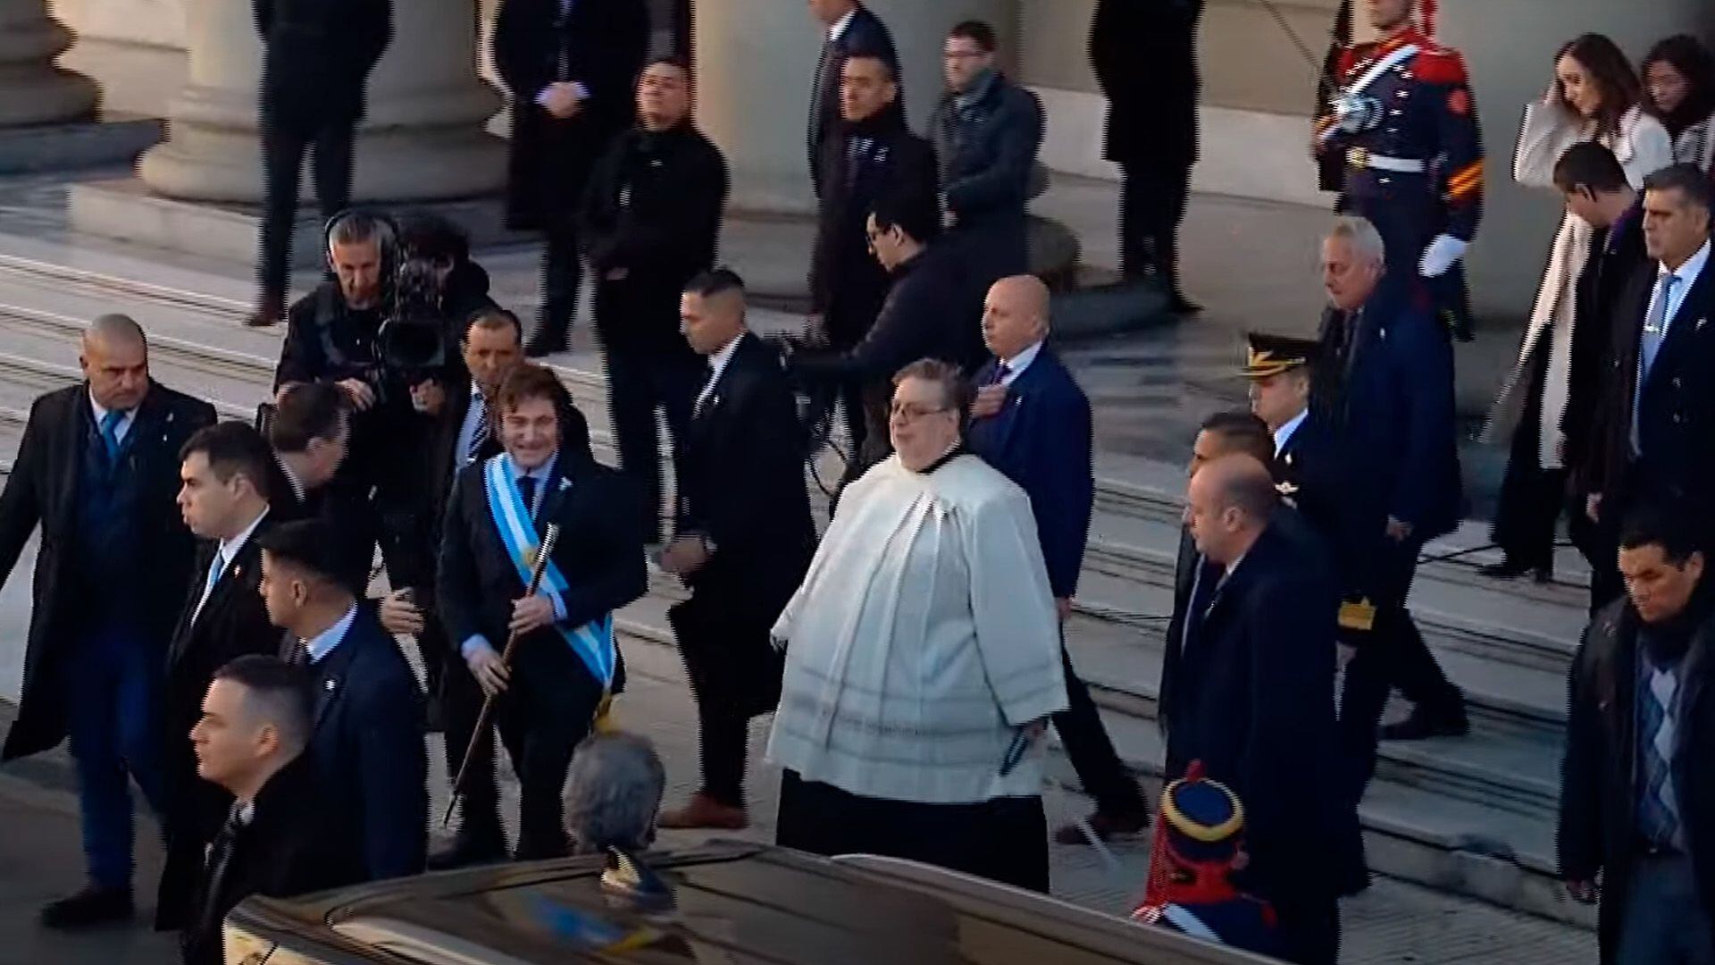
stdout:
[[[520,366],[496,410],[506,452],[460,472],[436,599],[472,677],[497,697],[501,743],[523,785],[518,857],[542,859],[566,853],[566,766],[623,685],[614,610],[648,591],[648,570],[636,493],[595,462],[559,378]],[[530,594],[549,525],[559,541]]]

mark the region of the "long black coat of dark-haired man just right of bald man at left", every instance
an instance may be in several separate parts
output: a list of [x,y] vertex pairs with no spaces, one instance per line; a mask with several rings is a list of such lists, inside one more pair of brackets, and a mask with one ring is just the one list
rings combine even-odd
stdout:
[[197,776],[197,761],[190,750],[190,728],[202,716],[202,697],[209,682],[214,680],[214,671],[232,659],[280,652],[283,634],[269,622],[262,594],[257,591],[262,580],[262,549],[256,544],[256,539],[276,522],[271,512],[262,517],[194,620],[192,611],[202,598],[202,580],[216,553],[213,541],[197,551],[197,565],[190,586],[185,587],[178,630],[173,632],[168,652],[166,692],[161,702],[166,742],[161,756],[166,867],[161,871],[156,927],[180,927],[185,922],[202,848],[214,838],[232,804],[232,795]]

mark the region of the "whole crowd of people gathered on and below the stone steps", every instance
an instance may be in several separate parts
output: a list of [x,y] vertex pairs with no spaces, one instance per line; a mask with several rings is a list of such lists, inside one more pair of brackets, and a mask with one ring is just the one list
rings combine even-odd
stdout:
[[[69,738],[79,774],[89,883],[46,926],[132,915],[132,781],[166,840],[156,926],[182,929],[196,965],[220,960],[220,922],[252,893],[641,850],[657,824],[746,828],[749,721],[770,713],[780,845],[1046,891],[1050,840],[1149,826],[1065,644],[1094,438],[1029,273],[1043,106],[998,69],[995,29],[967,21],[918,136],[887,26],[854,0],[808,5],[827,31],[806,130],[813,313],[787,340],[749,330],[744,282],[717,266],[727,167],[695,127],[686,62],[647,53],[641,3],[501,5],[509,213],[545,235],[528,335],[458,228],[343,209],[388,5],[310,60],[304,38],[331,27],[257,7],[271,227],[250,321],[286,325],[273,402],[257,426],[218,422],[149,376],[132,319],[98,318],[84,381],[34,404],[0,495],[0,572],[43,534],[5,757]],[[1176,230],[1200,7],[1103,0],[1091,36],[1122,268],[1178,313],[1195,311]],[[1338,960],[1339,900],[1367,886],[1377,740],[1468,730],[1408,598],[1463,510],[1453,350],[1482,209],[1475,100],[1434,3],[1367,9],[1377,39],[1331,55],[1315,124],[1341,189],[1321,331],[1252,333],[1250,409],[1194,443],[1159,680],[1168,788],[1135,915],[1300,963]],[[1161,139],[1140,130],[1159,93],[1175,108]],[[1712,125],[1696,41],[1664,41],[1640,74],[1588,34],[1528,105],[1514,161],[1566,218],[1489,426],[1511,445],[1489,575],[1547,574],[1562,508],[1595,572],[1559,843],[1622,965],[1715,958],[1694,766],[1715,750],[1700,702]],[[328,275],[286,304],[309,148]],[[568,345],[585,271],[617,469],[527,361]],[[845,470],[818,536],[806,462],[823,445]],[[614,613],[650,567],[689,591],[669,620],[700,737],[700,786],[667,810],[653,750],[607,733],[626,678]],[[1381,726],[1394,690],[1413,711]],[[1056,829],[1050,725],[1096,800]],[[444,731],[460,814],[434,853],[425,730]],[[496,742],[521,785],[511,845]]]

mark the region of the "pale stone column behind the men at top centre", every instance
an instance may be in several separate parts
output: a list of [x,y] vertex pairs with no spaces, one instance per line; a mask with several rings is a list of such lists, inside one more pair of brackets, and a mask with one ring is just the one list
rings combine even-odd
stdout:
[[[1015,0],[871,0],[904,65],[906,110],[918,132],[942,94],[942,41],[966,19],[988,21],[1010,60]],[[813,208],[804,130],[825,31],[803,3],[695,0],[696,118],[732,168],[737,209]]]

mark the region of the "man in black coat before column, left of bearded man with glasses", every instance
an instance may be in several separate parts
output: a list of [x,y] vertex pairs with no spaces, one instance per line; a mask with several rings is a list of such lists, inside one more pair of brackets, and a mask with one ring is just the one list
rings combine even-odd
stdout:
[[[906,125],[895,70],[880,53],[845,57],[840,122],[828,127],[820,148],[828,177],[809,254],[809,318],[842,352],[870,333],[890,285],[887,268],[870,254],[870,211],[887,194],[933,197],[936,191],[935,149]],[[859,452],[866,431],[861,386],[840,386],[839,398],[851,452]]]

